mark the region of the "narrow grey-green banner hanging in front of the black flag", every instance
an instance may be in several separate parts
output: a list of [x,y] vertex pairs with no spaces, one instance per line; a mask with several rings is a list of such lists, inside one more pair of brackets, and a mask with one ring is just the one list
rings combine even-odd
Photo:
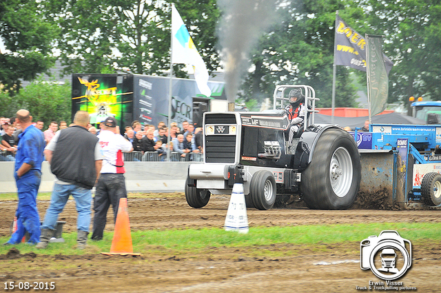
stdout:
[[382,58],[382,37],[366,35],[367,39],[367,97],[371,116],[386,109],[389,79],[387,78],[384,59]]

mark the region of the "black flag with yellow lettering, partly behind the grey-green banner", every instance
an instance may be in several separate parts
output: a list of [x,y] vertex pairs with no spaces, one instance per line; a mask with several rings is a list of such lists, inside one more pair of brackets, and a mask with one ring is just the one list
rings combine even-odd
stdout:
[[[334,64],[349,66],[351,68],[366,71],[366,40],[361,34],[353,30],[338,14],[336,15],[336,34],[334,38],[336,46]],[[387,74],[393,66],[393,62],[386,55],[382,55]]]

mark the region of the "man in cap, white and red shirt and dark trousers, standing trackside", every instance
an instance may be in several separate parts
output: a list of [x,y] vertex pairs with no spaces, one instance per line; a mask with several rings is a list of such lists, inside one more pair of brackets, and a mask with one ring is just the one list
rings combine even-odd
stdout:
[[104,161],[94,198],[95,214],[92,240],[95,241],[103,239],[107,210],[109,210],[110,204],[112,204],[114,221],[116,221],[119,200],[127,198],[123,152],[132,152],[133,150],[132,143],[119,133],[114,117],[105,119],[98,138]]

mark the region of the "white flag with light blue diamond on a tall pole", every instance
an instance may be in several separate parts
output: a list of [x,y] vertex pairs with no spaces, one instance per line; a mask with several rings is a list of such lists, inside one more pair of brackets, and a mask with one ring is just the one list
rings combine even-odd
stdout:
[[174,5],[172,5],[172,63],[193,65],[198,89],[207,97],[212,95],[212,90],[207,85],[207,67]]

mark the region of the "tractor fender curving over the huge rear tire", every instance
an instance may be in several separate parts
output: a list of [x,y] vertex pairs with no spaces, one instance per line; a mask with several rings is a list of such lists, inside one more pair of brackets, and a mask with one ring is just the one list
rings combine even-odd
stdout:
[[342,129],[338,125],[311,125],[302,133],[294,155],[294,169],[298,169],[301,172],[307,168],[312,161],[318,139],[323,132],[331,128]]

